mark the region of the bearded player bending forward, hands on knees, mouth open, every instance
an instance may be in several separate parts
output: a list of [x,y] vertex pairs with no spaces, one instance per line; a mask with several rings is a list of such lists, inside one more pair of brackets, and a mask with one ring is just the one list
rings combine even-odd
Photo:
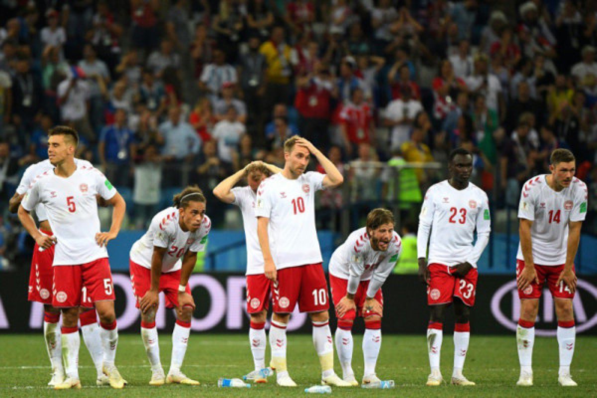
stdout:
[[350,332],[357,315],[365,320],[362,383],[380,381],[375,367],[381,348],[381,285],[398,261],[401,243],[400,236],[394,232],[392,212],[377,208],[367,215],[367,226],[351,233],[330,259],[330,287],[338,318],[336,350],[343,379],[351,385],[359,385],[352,370],[353,340]]

